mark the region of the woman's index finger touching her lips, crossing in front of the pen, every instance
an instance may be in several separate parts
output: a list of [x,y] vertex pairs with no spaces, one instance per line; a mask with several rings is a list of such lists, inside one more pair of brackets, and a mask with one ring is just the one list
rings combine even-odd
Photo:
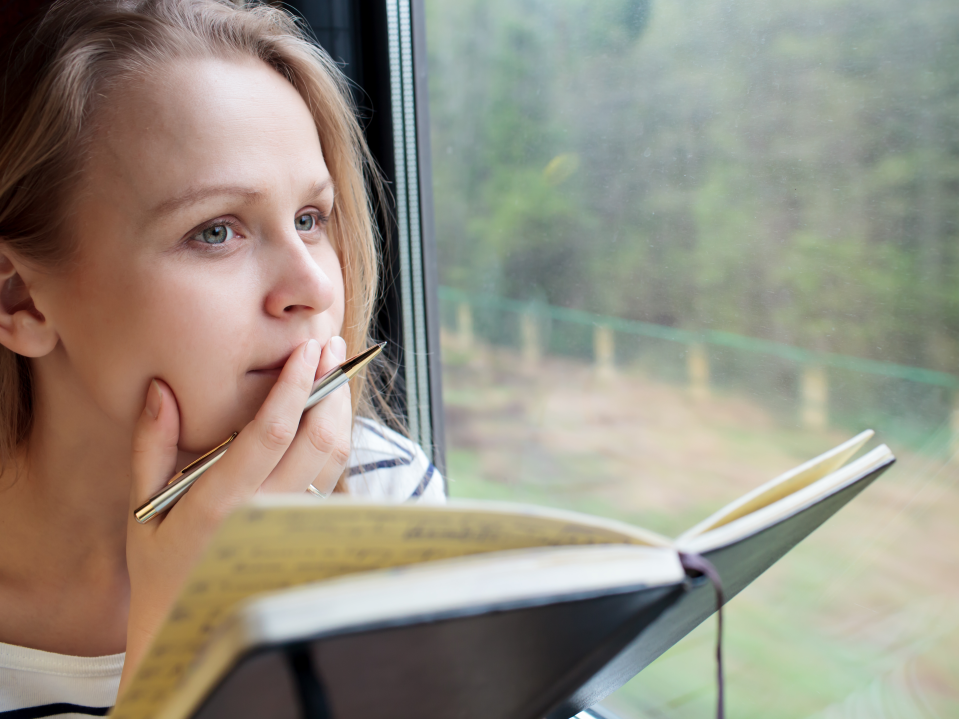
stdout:
[[179,505],[190,502],[205,513],[224,516],[256,493],[297,434],[319,361],[316,340],[293,352],[256,417]]

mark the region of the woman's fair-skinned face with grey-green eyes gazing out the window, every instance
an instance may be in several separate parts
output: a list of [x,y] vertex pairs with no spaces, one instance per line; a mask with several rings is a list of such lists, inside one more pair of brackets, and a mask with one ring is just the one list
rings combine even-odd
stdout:
[[330,174],[303,100],[254,60],[171,64],[104,104],[67,224],[78,263],[35,302],[109,418],[132,424],[159,377],[180,448],[205,451],[294,348],[341,331]]

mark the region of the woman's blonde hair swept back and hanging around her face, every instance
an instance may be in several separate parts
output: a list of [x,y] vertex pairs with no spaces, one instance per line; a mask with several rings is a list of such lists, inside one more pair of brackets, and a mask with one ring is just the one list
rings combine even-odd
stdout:
[[[62,207],[78,182],[93,118],[111,87],[171,60],[257,58],[296,88],[313,115],[336,187],[329,234],[346,287],[342,334],[348,353],[367,346],[378,254],[366,183],[380,198],[382,184],[345,77],[288,14],[226,0],[60,0],[20,37],[0,70],[0,242],[6,248],[43,268],[69,262],[75,248],[62,232],[66,218],[51,218],[49,208]],[[354,379],[354,415],[383,414],[381,384]],[[29,434],[32,395],[28,360],[0,347],[4,462]]]

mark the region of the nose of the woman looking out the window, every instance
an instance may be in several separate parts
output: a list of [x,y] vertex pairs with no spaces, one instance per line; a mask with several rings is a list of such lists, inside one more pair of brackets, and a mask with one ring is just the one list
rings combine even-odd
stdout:
[[329,309],[334,302],[334,288],[309,247],[293,231],[268,243],[267,276],[269,291],[264,308],[277,318],[304,317]]

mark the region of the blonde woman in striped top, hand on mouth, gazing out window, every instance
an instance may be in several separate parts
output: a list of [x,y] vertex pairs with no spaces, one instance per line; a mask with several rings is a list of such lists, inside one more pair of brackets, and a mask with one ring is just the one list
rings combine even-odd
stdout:
[[[371,382],[300,420],[368,344],[377,258],[345,81],[282,11],[66,0],[3,73],[0,716],[89,714],[238,504],[442,484]],[[160,521],[131,520],[234,430]]]

